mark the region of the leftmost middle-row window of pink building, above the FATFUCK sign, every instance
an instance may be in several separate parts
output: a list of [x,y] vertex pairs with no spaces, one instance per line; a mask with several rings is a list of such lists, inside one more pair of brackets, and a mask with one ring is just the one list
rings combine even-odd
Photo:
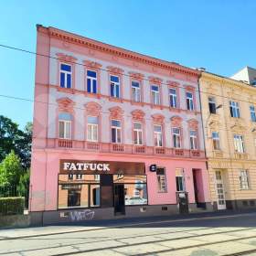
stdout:
[[71,114],[59,113],[59,139],[71,139]]

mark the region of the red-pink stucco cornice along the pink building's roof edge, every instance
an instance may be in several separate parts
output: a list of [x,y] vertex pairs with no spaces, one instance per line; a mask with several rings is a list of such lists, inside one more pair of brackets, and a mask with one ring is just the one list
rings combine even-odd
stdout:
[[183,74],[190,75],[197,78],[201,73],[201,71],[197,69],[190,69],[182,65],[179,65],[175,62],[168,62],[162,59],[155,59],[155,58],[145,56],[143,54],[136,53],[127,49],[117,48],[117,47],[102,43],[100,41],[93,40],[88,37],[81,37],[81,36],[60,30],[55,27],[42,27],[42,26],[37,27],[37,31],[40,31],[40,32],[42,31],[43,33],[46,33],[46,29],[48,29],[49,37],[55,37],[65,42],[69,42],[72,44],[84,46],[86,48],[91,48],[93,50],[109,53],[115,57],[130,59],[133,61],[151,65],[153,67],[168,69],[170,71],[183,73]]

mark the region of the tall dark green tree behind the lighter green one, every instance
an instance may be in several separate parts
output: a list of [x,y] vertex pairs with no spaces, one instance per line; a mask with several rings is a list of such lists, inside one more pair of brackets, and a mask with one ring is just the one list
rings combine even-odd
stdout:
[[24,169],[30,167],[32,142],[32,123],[27,123],[24,131],[11,119],[0,115],[0,162],[11,150],[21,159]]

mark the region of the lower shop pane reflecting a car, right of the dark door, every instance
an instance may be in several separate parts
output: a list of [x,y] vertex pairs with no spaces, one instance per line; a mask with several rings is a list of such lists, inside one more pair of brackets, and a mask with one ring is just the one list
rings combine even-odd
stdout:
[[125,205],[146,205],[146,184],[124,184]]

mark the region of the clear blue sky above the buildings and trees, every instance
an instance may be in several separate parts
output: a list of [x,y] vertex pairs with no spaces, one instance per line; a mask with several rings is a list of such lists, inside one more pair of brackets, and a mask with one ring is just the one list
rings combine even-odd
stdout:
[[[36,24],[230,76],[256,67],[253,0],[2,1],[0,44],[36,49]],[[35,56],[0,48],[1,93],[33,99]],[[22,128],[33,103],[0,97],[0,114]]]

